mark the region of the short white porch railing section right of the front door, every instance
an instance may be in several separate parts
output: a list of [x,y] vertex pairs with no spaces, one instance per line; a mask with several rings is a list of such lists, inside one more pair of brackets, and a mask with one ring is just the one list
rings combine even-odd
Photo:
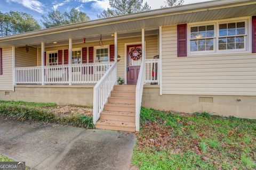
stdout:
[[157,83],[159,84],[159,69],[158,69],[159,59],[145,60],[145,83]]

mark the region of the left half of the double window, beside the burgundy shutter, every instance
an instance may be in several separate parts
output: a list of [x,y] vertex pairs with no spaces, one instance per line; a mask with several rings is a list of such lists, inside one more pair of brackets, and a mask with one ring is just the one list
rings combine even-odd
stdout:
[[214,25],[190,28],[190,52],[212,51],[214,44]]

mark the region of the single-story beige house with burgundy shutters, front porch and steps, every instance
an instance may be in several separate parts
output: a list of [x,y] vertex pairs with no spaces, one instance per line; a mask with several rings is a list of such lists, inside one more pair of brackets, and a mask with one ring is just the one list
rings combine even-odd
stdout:
[[218,0],[2,37],[0,99],[93,106],[97,128],[125,131],[141,105],[256,118],[255,9]]

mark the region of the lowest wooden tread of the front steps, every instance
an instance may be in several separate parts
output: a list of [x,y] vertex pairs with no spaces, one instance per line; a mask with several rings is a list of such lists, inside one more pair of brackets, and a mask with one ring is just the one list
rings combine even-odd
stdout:
[[135,128],[135,122],[125,122],[125,121],[99,120],[96,123],[96,126],[97,125]]

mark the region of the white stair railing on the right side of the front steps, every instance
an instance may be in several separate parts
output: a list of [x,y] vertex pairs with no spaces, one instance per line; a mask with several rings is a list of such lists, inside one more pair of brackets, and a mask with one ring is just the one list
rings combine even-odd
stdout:
[[142,102],[143,86],[145,84],[145,60],[142,60],[140,66],[139,77],[136,86],[136,96],[135,96],[135,129],[140,130],[140,109]]

